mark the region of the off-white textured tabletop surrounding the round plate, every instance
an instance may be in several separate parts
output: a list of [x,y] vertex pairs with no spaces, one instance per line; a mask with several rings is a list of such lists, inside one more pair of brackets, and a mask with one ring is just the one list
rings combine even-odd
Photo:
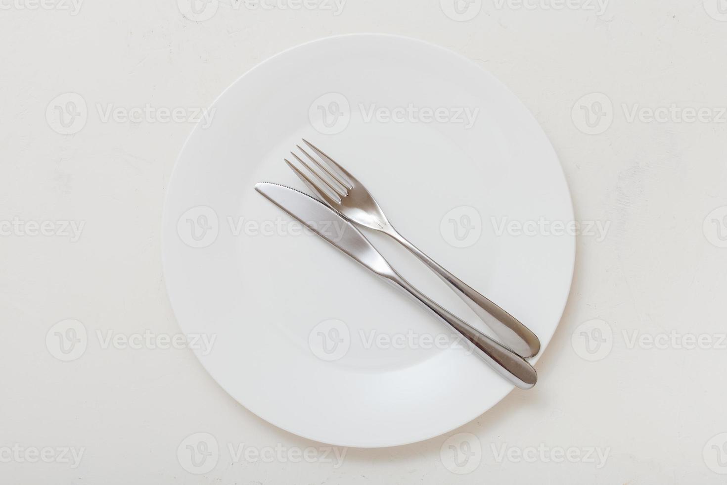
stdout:
[[[176,0],[0,0],[0,480],[724,483],[727,209],[713,211],[727,206],[727,13],[718,1],[727,12],[723,0],[611,1],[604,11],[586,0],[485,0],[467,21],[438,0],[348,0],[340,15],[329,2],[333,10],[248,2],[196,22]],[[161,210],[193,127],[105,111],[203,108],[276,52],[357,32],[441,44],[497,76],[552,140],[577,220],[608,231],[579,236],[569,303],[534,390],[515,390],[447,436],[337,449],[338,461],[237,404],[188,349],[104,345],[109,334],[179,332],[162,278]],[[56,100],[65,93],[76,96]],[[64,129],[56,106],[73,108],[69,100],[87,119]],[[595,118],[599,107],[606,116]],[[52,340],[66,319],[87,331],[71,361]],[[205,473],[185,461],[187,444],[210,439],[196,433],[219,447]]]

